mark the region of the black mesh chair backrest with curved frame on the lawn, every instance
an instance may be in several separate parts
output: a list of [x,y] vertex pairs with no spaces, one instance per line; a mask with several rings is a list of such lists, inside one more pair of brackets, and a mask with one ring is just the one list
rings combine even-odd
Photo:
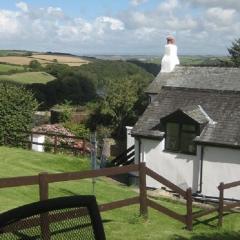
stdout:
[[0,240],[105,240],[94,196],[49,199],[0,214]]

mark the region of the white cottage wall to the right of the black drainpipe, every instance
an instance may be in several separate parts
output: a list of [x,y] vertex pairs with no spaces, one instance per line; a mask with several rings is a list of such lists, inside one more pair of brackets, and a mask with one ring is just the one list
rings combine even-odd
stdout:
[[[240,151],[204,147],[202,194],[218,197],[219,183],[234,181],[240,181]],[[240,187],[225,190],[224,197],[240,199]]]

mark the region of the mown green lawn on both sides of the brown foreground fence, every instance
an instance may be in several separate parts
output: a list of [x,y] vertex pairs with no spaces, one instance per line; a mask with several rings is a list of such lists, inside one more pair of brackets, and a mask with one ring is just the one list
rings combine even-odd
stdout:
[[[86,170],[90,166],[89,159],[35,153],[32,151],[0,147],[0,176],[35,175],[42,171],[66,172]],[[81,181],[50,184],[50,197],[92,194],[91,179]],[[98,178],[95,192],[99,203],[136,196],[133,187],[126,187],[108,178]],[[38,188],[18,187],[0,190],[0,211],[38,200]],[[177,212],[185,213],[185,206],[166,199],[159,199],[164,206]],[[212,215],[214,216],[214,215]],[[107,239],[110,240],[237,240],[240,239],[240,213],[224,218],[224,227],[215,227],[216,220],[207,221],[194,226],[193,232],[184,229],[183,224],[149,209],[149,218],[139,217],[139,206],[134,205],[102,213]]]

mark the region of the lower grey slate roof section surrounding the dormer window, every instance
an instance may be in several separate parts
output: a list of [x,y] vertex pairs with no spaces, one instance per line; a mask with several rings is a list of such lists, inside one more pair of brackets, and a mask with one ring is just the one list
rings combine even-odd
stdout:
[[240,147],[240,92],[237,91],[163,87],[133,127],[132,135],[162,138],[164,133],[158,130],[161,118],[178,109],[196,109],[198,105],[214,122],[209,121],[197,141]]

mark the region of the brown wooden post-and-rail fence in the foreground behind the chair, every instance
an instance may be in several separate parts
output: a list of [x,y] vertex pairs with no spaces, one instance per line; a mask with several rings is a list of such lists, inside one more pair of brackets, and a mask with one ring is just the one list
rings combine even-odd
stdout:
[[[68,173],[40,173],[36,176],[23,176],[23,177],[14,177],[14,178],[2,178],[0,179],[0,188],[10,188],[10,187],[20,187],[20,186],[30,186],[30,185],[39,185],[39,199],[47,200],[49,197],[49,184],[55,182],[71,181],[71,180],[80,180],[86,178],[96,178],[103,176],[114,176],[124,173],[138,173],[139,176],[139,196],[127,198],[123,200],[118,200],[110,203],[105,203],[99,205],[100,211],[108,211],[116,208],[121,208],[133,204],[140,205],[140,214],[144,217],[148,217],[148,207],[151,207],[161,213],[166,214],[167,216],[174,218],[177,221],[183,223],[188,230],[193,228],[193,220],[199,217],[208,215],[213,212],[218,212],[219,214],[219,225],[222,225],[223,211],[229,210],[236,206],[240,206],[240,202],[231,203],[224,205],[224,189],[239,186],[240,182],[234,182],[229,184],[221,183],[219,186],[220,192],[220,201],[219,206],[210,210],[203,210],[200,212],[193,213],[192,211],[192,189],[188,188],[186,191],[179,188],[166,178],[160,176],[158,173],[146,167],[145,163],[140,163],[139,165],[128,165],[122,167],[112,167],[104,168],[99,170],[89,170],[82,172],[68,172]],[[174,212],[172,209],[168,209],[156,201],[153,201],[147,196],[147,187],[146,187],[146,176],[150,176],[159,183],[167,186],[169,189],[178,193],[184,199],[186,199],[186,214],[179,214]]]

